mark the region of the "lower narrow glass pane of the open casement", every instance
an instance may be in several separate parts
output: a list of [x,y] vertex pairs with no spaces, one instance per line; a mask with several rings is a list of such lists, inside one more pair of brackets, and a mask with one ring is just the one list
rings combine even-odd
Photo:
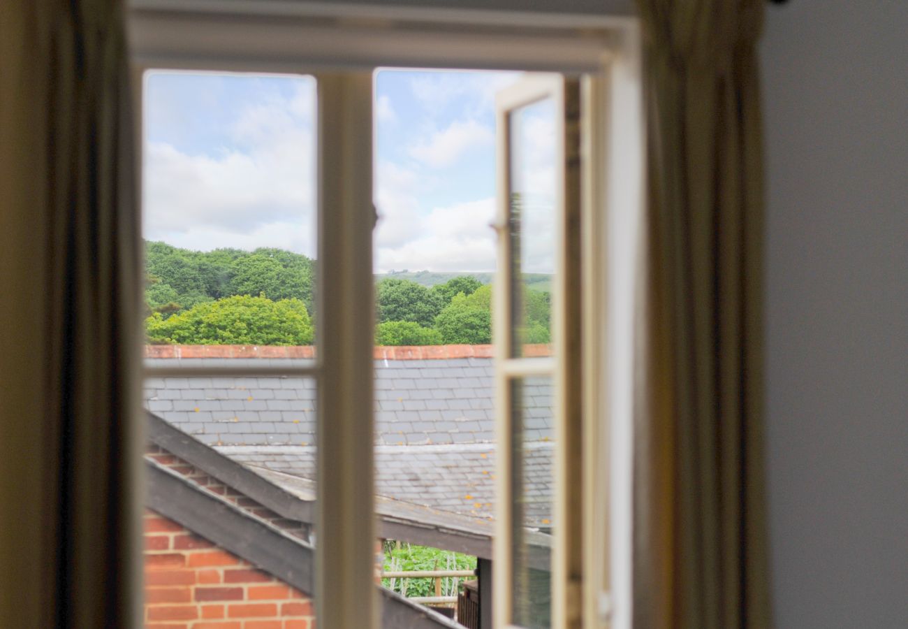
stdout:
[[551,624],[554,425],[549,377],[511,381],[513,622]]

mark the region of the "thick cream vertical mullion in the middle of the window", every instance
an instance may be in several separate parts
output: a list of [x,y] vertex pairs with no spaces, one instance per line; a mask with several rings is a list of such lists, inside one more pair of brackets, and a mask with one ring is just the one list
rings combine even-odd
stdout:
[[319,75],[321,629],[377,626],[372,464],[372,77]]

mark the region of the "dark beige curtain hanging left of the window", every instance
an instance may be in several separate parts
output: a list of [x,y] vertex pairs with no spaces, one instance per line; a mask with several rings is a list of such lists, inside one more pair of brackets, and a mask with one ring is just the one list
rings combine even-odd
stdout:
[[140,626],[123,6],[0,2],[0,626]]

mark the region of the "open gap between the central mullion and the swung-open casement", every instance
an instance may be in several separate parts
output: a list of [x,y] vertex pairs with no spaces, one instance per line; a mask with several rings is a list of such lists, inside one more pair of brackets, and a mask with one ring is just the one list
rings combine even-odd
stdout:
[[[381,584],[467,626],[489,590],[495,514],[493,96],[519,76],[375,74]],[[443,575],[412,575],[425,571]]]

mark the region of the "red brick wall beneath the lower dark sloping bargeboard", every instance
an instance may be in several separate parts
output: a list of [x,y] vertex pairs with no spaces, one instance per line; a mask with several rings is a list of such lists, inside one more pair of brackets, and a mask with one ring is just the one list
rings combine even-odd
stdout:
[[315,629],[306,594],[147,510],[146,629]]

